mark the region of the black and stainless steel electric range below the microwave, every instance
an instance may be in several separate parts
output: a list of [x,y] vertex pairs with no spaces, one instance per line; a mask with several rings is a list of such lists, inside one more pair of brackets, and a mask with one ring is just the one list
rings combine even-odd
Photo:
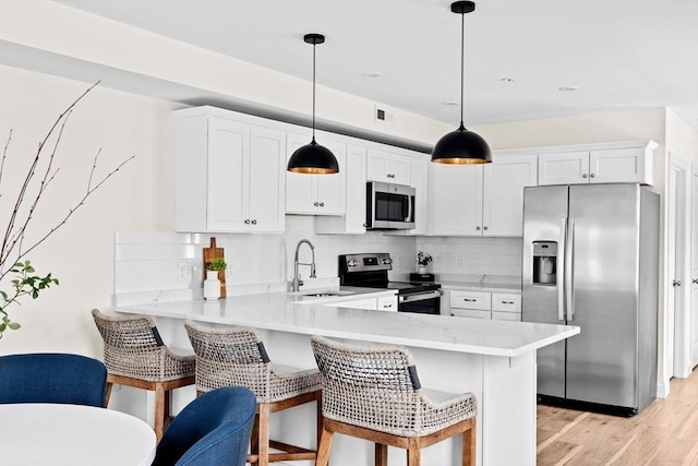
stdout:
[[398,312],[440,313],[441,285],[388,280],[388,271],[393,270],[390,254],[342,254],[338,262],[340,285],[395,289]]

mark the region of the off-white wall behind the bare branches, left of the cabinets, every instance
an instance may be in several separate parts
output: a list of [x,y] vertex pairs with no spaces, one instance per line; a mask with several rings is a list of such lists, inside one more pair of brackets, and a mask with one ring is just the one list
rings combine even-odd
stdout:
[[[0,67],[0,140],[12,129],[2,174],[0,230],[4,234],[12,192],[26,164],[56,118],[88,85]],[[108,308],[113,290],[113,232],[173,228],[174,165],[171,103],[97,87],[70,117],[58,146],[60,167],[28,228],[29,236],[55,226],[86,190],[93,158],[101,148],[97,174],[135,155],[64,227],[26,259],[60,286],[24,299],[8,311],[22,324],[0,340],[0,353],[73,351],[100,356],[101,343],[89,315]],[[5,289],[7,283],[2,284]]]

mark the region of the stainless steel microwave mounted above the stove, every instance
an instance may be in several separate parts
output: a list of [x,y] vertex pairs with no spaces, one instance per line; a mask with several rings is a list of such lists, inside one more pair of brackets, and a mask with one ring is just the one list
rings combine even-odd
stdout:
[[414,228],[414,194],[404,184],[366,183],[366,229],[409,230]]

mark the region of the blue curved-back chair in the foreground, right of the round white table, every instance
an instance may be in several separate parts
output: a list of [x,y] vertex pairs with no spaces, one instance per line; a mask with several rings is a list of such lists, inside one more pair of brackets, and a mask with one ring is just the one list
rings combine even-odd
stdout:
[[204,393],[172,420],[153,466],[243,466],[256,406],[256,397],[244,386]]

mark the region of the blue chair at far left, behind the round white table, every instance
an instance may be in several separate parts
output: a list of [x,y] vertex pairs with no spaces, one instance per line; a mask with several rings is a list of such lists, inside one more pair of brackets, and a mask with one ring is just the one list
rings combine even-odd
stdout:
[[0,357],[0,403],[104,406],[107,368],[80,355],[34,353]]

